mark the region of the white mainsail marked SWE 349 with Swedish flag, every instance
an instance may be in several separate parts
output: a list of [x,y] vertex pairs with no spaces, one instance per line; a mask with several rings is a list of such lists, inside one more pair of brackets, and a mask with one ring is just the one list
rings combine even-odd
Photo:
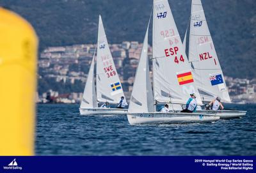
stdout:
[[113,57],[109,50],[108,40],[100,16],[96,71],[98,102],[118,103],[120,97],[124,96],[124,91],[115,68]]

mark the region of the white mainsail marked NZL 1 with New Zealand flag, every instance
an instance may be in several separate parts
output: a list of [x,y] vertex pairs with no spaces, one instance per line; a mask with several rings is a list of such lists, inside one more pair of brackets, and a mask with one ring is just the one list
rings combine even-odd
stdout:
[[195,70],[195,82],[202,100],[210,102],[219,96],[222,102],[230,102],[200,0],[193,0],[191,4],[189,61]]

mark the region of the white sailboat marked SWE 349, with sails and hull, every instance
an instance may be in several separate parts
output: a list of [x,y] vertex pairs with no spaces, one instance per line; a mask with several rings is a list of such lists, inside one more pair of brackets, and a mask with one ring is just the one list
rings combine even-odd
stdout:
[[120,98],[124,96],[122,84],[115,68],[115,63],[109,49],[108,40],[100,16],[97,43],[96,91],[94,80],[94,61],[95,52],[93,54],[92,64],[88,73],[88,79],[84,87],[83,98],[79,108],[80,114],[125,114],[127,109],[98,107],[98,103],[104,102],[118,104]]

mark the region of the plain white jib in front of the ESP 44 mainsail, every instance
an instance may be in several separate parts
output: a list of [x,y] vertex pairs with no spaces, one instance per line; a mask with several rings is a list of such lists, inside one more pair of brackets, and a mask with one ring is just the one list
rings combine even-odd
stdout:
[[[149,24],[148,24],[149,25]],[[128,112],[154,112],[154,98],[148,66],[148,27],[135,75]]]

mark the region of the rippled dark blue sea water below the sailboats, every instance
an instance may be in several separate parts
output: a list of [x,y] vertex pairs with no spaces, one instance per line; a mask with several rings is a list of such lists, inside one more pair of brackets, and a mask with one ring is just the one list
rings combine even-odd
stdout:
[[131,126],[126,116],[80,116],[79,105],[38,105],[36,155],[256,155],[256,105],[242,119]]

